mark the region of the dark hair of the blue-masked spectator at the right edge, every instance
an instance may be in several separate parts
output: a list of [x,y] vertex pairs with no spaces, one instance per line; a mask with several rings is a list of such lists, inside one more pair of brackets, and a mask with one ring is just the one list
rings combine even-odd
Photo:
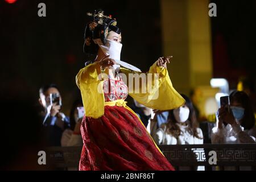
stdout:
[[236,101],[242,105],[245,109],[245,115],[241,119],[241,126],[245,130],[250,130],[255,125],[255,117],[253,112],[253,107],[251,106],[250,99],[248,95],[243,91],[233,91],[229,96],[230,104]]

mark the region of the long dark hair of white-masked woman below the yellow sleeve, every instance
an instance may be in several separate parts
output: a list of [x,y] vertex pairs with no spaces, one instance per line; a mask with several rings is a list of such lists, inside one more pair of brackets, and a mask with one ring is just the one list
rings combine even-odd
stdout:
[[[193,107],[193,104],[191,100],[187,96],[185,96],[185,94],[180,94],[180,95],[185,99],[186,101],[185,105],[189,109],[189,117],[188,117],[188,121],[186,121],[188,125],[188,132],[194,137],[201,139],[197,132],[198,123],[196,120],[196,114],[195,114],[195,109]],[[181,130],[179,125],[177,125],[177,121],[174,117],[174,110],[169,111],[168,122],[165,125],[167,126],[167,133],[170,133],[175,138],[179,137]]]

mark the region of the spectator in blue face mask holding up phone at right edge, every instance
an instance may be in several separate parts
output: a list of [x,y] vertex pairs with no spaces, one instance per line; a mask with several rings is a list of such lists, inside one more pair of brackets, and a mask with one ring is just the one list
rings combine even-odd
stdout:
[[212,130],[212,143],[254,143],[255,118],[249,97],[245,92],[234,91],[229,96],[228,106],[217,112],[217,126]]

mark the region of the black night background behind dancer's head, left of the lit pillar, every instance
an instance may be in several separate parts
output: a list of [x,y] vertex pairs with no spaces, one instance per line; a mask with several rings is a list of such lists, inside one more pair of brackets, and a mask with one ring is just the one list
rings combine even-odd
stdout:
[[[26,87],[38,98],[42,84],[59,85],[64,104],[80,92],[75,76],[84,67],[82,52],[87,12],[104,9],[122,29],[122,58],[146,71],[161,55],[159,2],[138,1],[0,1],[1,81],[12,89]],[[46,3],[46,18],[38,4]],[[135,6],[136,5],[136,6]],[[11,80],[11,83],[10,83]],[[23,90],[24,94],[27,90]]]

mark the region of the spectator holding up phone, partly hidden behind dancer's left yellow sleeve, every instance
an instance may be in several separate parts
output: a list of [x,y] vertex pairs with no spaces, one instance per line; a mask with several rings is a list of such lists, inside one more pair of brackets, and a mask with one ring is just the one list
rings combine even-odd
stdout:
[[70,118],[70,129],[66,129],[61,137],[61,146],[82,146],[81,136],[81,122],[82,115],[79,113],[79,109],[83,109],[82,101],[76,100],[71,108]]

